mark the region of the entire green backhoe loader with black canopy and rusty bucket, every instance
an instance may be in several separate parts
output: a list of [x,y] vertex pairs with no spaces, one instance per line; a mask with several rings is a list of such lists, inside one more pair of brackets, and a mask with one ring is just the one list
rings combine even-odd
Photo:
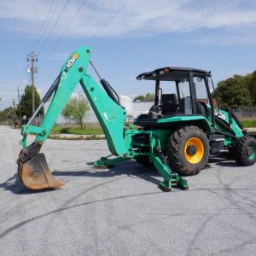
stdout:
[[[17,160],[18,176],[26,188],[47,189],[63,185],[49,171],[40,149],[77,84],[81,84],[96,113],[111,152],[111,156],[96,160],[95,167],[114,166],[134,159],[140,164],[154,166],[163,177],[160,188],[170,191],[173,186],[188,189],[183,176],[200,172],[207,165],[209,154],[221,150],[229,150],[241,166],[255,163],[256,140],[243,129],[232,110],[218,109],[212,98],[210,72],[164,67],[138,75],[138,80],[154,81],[154,104],[132,125],[125,125],[125,108],[120,105],[118,94],[96,70],[90,55],[90,49],[83,46],[67,58],[32,116],[33,119],[51,98],[41,127],[30,125],[32,119],[21,127],[23,149]],[[87,72],[88,65],[92,65],[102,86]],[[27,146],[29,134],[37,137]]]

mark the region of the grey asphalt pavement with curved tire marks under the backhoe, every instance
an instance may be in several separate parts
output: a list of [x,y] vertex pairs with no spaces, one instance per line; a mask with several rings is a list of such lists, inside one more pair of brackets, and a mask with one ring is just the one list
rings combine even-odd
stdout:
[[17,180],[20,131],[0,126],[1,255],[255,255],[256,165],[212,156],[163,192],[154,169],[130,160],[95,170],[104,140],[46,141],[62,189],[31,191]]

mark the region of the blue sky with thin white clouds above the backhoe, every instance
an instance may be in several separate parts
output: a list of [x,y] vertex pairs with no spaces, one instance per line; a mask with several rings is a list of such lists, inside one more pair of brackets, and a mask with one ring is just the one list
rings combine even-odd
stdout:
[[[26,55],[38,55],[41,96],[63,61],[83,44],[119,94],[153,91],[138,73],[181,66],[211,70],[215,84],[256,69],[256,1],[0,0],[0,109],[29,82]],[[96,78],[96,76],[95,76]],[[79,88],[76,93],[82,93]]]

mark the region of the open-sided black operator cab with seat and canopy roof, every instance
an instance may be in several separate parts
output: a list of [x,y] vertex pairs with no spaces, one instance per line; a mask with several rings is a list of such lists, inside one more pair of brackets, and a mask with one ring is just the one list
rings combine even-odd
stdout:
[[186,67],[163,67],[141,73],[137,80],[155,81],[155,97],[148,114],[139,115],[136,124],[143,125],[147,119],[165,119],[177,115],[202,115],[212,119],[210,78],[210,72]]

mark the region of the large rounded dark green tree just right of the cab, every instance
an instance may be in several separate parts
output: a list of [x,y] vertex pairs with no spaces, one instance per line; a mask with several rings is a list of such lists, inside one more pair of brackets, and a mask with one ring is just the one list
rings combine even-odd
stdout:
[[247,89],[247,79],[234,75],[230,79],[220,81],[215,90],[219,108],[250,108],[253,100]]

